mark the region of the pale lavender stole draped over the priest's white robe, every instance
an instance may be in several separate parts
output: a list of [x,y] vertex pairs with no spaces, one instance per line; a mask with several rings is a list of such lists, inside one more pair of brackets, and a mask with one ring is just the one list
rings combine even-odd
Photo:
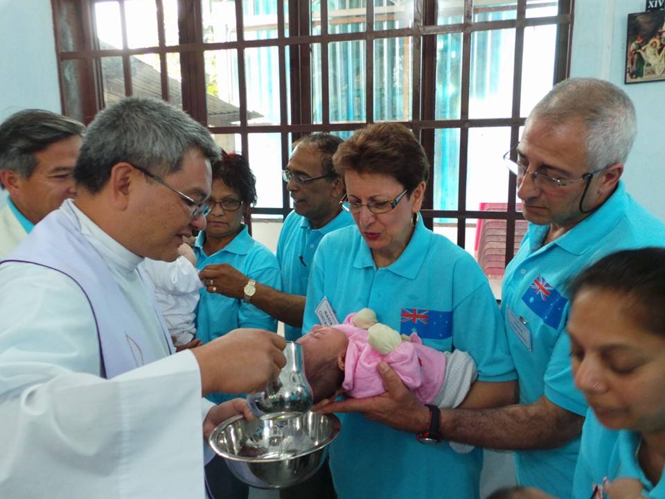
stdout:
[[[64,211],[68,211],[69,215]],[[107,263],[81,234],[80,222],[67,203],[35,225],[28,237],[0,263],[10,261],[51,268],[76,282],[87,298],[94,317],[102,361],[100,376],[103,378],[113,378],[159,360],[145,347],[145,335],[154,333],[137,329],[139,319],[114,280]],[[150,292],[150,280],[141,270],[139,275],[148,291],[145,299],[152,302],[164,340],[170,353],[174,353],[154,293]]]

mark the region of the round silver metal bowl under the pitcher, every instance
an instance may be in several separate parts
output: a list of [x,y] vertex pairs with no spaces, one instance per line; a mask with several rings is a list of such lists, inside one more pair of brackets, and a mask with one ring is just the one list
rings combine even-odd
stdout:
[[281,413],[227,419],[208,441],[233,475],[251,487],[282,489],[310,478],[326,460],[342,425],[335,414]]

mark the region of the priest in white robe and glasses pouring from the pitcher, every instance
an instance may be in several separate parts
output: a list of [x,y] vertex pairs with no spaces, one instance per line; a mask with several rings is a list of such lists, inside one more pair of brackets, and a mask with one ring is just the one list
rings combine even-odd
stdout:
[[138,268],[205,227],[218,154],[181,110],[120,100],[87,130],[76,200],[0,262],[3,497],[204,497],[204,439],[246,405],[202,395],[285,365],[284,340],[256,329],[175,353]]

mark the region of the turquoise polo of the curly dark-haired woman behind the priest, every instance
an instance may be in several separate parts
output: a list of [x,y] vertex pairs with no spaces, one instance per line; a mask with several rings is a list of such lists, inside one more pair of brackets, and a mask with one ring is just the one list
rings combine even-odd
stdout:
[[[213,263],[228,263],[256,281],[281,288],[279,265],[274,254],[249,236],[247,227],[218,252],[208,256],[204,252],[205,232],[199,234],[194,244],[196,268],[202,270]],[[202,288],[196,311],[196,337],[207,343],[239,327],[277,331],[277,321],[242,299],[209,293]],[[208,399],[215,403],[227,401],[238,395],[212,394]]]

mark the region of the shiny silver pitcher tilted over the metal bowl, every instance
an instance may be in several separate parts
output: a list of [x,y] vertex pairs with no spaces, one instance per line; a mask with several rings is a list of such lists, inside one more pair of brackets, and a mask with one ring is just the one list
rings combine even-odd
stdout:
[[288,417],[304,414],[312,407],[312,389],[305,378],[303,347],[286,342],[286,365],[276,380],[268,383],[265,391],[247,396],[247,405],[258,417]]

